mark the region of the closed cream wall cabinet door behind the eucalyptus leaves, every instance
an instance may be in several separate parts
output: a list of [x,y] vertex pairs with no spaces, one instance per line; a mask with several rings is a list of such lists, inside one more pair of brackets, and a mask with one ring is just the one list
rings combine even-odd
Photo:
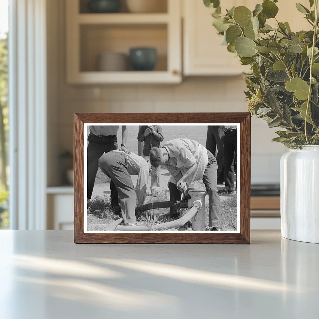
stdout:
[[[243,66],[239,57],[227,51],[222,46],[223,38],[217,34],[212,26],[211,13],[214,8],[206,8],[202,0],[183,1],[183,69],[185,76],[222,76],[238,75],[250,72],[249,66]],[[256,4],[263,1],[257,0],[221,0],[222,12],[233,6],[244,5],[251,11]],[[309,7],[308,0],[298,1]],[[279,8],[278,21],[289,22],[292,31],[310,30],[311,26],[303,14],[297,11],[295,2],[280,0],[276,3]],[[275,19],[267,20],[270,25],[275,25]]]

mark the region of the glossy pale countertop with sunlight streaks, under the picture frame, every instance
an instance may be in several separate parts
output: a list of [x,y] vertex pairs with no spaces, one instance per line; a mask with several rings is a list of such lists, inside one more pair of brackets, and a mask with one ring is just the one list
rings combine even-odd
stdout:
[[0,317],[318,318],[319,245],[76,245],[72,231],[0,231]]

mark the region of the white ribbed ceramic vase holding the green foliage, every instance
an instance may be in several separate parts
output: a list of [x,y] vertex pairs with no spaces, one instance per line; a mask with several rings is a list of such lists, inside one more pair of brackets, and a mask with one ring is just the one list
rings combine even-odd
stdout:
[[319,145],[285,153],[280,172],[282,236],[319,243]]

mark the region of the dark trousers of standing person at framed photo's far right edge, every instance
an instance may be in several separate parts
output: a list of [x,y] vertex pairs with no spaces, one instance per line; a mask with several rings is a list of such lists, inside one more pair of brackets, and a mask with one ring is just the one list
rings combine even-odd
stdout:
[[[236,165],[232,165],[233,162]],[[226,190],[235,190],[234,172],[237,175],[237,129],[226,129],[224,136],[224,179]]]

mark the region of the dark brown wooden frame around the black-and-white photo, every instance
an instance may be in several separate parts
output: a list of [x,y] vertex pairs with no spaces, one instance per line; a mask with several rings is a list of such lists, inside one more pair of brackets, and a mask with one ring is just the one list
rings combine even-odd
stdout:
[[[250,113],[76,113],[74,114],[74,242],[140,244],[250,243]],[[85,123],[240,124],[240,231],[237,233],[87,233],[84,230]]]

